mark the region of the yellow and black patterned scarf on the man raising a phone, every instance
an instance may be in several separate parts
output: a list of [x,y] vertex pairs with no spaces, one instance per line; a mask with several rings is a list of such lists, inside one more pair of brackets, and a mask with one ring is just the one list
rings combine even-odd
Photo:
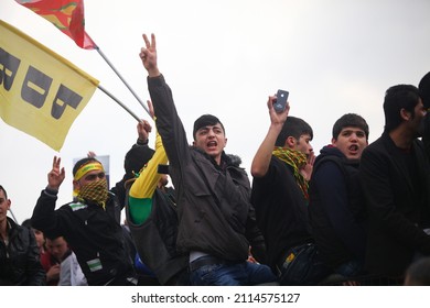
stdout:
[[293,168],[295,183],[302,190],[304,198],[309,200],[309,184],[308,180],[300,173],[300,169],[303,168],[308,163],[307,155],[304,155],[300,151],[284,148],[281,146],[276,146],[272,154]]

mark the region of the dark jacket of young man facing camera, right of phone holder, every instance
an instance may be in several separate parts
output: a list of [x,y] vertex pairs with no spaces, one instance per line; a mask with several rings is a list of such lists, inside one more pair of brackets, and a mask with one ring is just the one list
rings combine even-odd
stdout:
[[358,160],[324,146],[313,165],[309,213],[321,257],[332,268],[352,260],[364,263],[366,208]]

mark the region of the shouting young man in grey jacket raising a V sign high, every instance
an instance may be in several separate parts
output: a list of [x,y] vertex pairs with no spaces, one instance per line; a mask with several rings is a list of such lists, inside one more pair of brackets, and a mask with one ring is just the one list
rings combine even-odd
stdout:
[[268,266],[247,262],[249,244],[256,250],[264,241],[252,219],[249,179],[239,158],[224,152],[224,125],[214,116],[202,116],[194,122],[190,147],[172,91],[158,68],[155,36],[149,41],[143,34],[143,40],[140,57],[148,70],[155,124],[176,191],[176,246],[190,253],[191,283],[256,285],[276,280]]

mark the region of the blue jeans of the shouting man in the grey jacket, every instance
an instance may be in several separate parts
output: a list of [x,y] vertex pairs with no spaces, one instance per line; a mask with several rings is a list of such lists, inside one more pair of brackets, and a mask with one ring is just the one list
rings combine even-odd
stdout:
[[204,265],[191,272],[190,280],[193,286],[252,286],[277,277],[269,266],[244,261]]

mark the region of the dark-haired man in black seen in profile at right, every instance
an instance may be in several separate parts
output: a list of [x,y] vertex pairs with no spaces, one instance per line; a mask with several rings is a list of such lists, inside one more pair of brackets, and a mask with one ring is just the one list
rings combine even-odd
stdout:
[[366,270],[402,279],[408,265],[430,255],[430,166],[422,142],[426,109],[417,87],[390,87],[384,99],[385,129],[361,160],[369,215]]

